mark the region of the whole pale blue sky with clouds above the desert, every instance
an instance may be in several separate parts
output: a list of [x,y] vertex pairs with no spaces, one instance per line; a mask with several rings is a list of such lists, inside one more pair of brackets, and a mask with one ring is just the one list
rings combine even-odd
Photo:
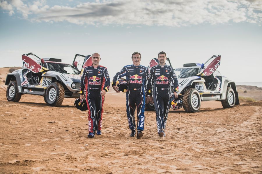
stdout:
[[261,82],[261,24],[261,0],[0,0],[0,67],[98,52],[112,80],[133,52],[148,66],[164,51],[174,68],[221,55],[222,75]]

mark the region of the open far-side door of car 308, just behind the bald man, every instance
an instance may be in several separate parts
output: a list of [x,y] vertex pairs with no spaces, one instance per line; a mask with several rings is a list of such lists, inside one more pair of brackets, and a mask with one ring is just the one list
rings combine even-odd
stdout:
[[86,68],[87,66],[91,66],[91,65],[92,65],[92,56],[91,55],[88,55],[88,56],[83,56],[79,54],[75,55],[73,66],[76,68],[76,70],[78,71],[80,75],[83,74],[84,68]]

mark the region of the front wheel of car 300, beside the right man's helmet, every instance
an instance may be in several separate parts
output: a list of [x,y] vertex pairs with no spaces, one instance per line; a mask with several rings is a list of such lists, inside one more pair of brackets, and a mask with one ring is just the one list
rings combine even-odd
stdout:
[[195,88],[189,88],[183,96],[183,108],[189,113],[198,112],[201,105],[201,98]]

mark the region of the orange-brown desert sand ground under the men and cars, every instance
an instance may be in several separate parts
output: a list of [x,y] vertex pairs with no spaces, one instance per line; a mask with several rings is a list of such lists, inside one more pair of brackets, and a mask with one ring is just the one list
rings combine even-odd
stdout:
[[171,110],[164,138],[155,112],[145,112],[144,136],[136,139],[129,136],[125,94],[111,88],[102,135],[89,139],[88,114],[75,99],[61,107],[34,95],[8,102],[0,73],[0,173],[262,173],[262,102]]

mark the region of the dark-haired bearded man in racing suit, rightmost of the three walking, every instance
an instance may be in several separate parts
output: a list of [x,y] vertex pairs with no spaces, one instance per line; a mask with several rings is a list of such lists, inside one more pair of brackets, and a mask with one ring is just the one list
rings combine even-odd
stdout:
[[[155,106],[157,130],[159,137],[165,136],[165,128],[167,124],[167,115],[169,111],[169,100],[172,93],[175,98],[178,97],[178,81],[174,69],[171,66],[166,65],[166,53],[158,53],[159,64],[153,66],[150,70],[149,81],[150,91],[152,96],[152,85],[153,85],[153,101]],[[171,82],[174,88],[171,91]],[[146,97],[146,103],[152,103],[152,97]]]

